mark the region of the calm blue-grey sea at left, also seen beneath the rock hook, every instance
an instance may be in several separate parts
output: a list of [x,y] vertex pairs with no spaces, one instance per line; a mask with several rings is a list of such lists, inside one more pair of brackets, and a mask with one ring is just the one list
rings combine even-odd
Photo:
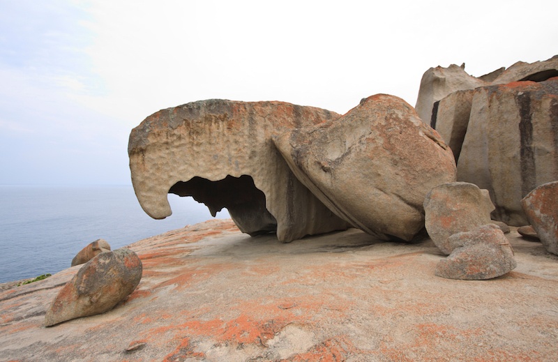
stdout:
[[[92,241],[116,250],[213,218],[192,197],[168,195],[172,216],[154,220],[132,186],[0,185],[0,283],[57,273]],[[216,218],[229,218],[226,209]]]

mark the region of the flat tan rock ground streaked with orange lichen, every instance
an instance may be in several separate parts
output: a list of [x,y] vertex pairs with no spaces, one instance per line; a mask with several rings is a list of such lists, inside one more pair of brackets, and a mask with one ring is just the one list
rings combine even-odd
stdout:
[[0,286],[0,360],[557,361],[558,257],[507,236],[517,269],[464,281],[434,275],[432,241],[282,244],[211,220],[129,246],[142,281],[103,315],[43,326],[80,266]]

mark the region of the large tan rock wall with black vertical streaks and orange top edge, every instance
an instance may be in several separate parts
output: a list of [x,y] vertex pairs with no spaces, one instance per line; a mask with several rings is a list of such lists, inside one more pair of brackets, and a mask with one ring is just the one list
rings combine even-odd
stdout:
[[521,199],[558,179],[558,78],[514,82],[474,91],[458,181],[490,192],[492,218],[529,223]]

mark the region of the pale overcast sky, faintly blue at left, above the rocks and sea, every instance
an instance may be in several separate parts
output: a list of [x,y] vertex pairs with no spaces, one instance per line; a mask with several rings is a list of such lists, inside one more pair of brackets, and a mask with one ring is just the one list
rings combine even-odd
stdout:
[[425,70],[558,54],[558,1],[0,0],[0,184],[128,185],[130,130],[195,100],[415,105]]

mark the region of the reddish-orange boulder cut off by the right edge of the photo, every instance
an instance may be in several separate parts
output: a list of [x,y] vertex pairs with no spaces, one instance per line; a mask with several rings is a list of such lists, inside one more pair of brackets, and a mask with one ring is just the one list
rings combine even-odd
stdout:
[[558,181],[538,186],[521,204],[545,249],[558,255]]

